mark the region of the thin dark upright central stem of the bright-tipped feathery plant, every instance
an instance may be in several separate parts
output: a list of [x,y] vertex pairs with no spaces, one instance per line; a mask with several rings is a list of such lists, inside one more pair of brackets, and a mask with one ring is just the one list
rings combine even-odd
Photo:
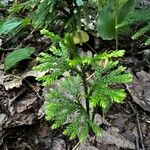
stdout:
[[83,87],[84,87],[84,94],[85,94],[85,100],[86,100],[86,110],[87,110],[87,114],[90,115],[88,86],[87,86],[87,81],[86,81],[86,69],[85,69],[84,66],[82,66],[82,75],[81,75],[81,78],[82,78]]

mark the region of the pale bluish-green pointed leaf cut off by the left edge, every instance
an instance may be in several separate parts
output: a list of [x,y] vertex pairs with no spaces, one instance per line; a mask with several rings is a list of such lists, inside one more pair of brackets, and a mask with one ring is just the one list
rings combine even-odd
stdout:
[[12,18],[0,21],[0,35],[8,34],[13,29],[17,28],[23,22],[22,19],[19,18]]

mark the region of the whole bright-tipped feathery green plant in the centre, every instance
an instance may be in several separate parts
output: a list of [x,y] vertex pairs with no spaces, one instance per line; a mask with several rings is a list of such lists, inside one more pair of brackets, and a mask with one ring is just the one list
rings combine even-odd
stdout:
[[[125,73],[126,68],[114,59],[122,57],[124,50],[87,55],[79,52],[75,44],[88,40],[84,31],[66,33],[64,38],[48,30],[41,33],[53,41],[51,54],[41,53],[37,58],[39,65],[35,67],[47,72],[38,80],[44,86],[52,85],[44,104],[46,119],[53,121],[53,129],[65,125],[63,133],[70,139],[78,137],[80,142],[91,131],[101,135],[94,120],[96,108],[105,112],[111,104],[122,103],[126,97],[124,89],[115,89],[112,85],[132,81],[131,74]],[[93,70],[92,75],[89,68]],[[67,75],[62,77],[64,74]]]

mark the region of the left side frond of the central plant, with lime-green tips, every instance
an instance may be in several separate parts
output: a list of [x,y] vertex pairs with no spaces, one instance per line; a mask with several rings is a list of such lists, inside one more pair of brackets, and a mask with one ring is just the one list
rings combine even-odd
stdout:
[[48,73],[37,78],[37,80],[42,81],[44,86],[51,84],[65,71],[69,70],[68,63],[63,57],[55,57],[47,53],[41,53],[37,60],[40,64],[34,67],[34,69]]

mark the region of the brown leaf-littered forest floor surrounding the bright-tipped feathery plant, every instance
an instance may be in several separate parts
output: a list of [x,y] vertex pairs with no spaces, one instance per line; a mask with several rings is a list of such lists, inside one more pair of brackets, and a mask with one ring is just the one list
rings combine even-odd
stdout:
[[[97,40],[102,51],[114,49],[113,42]],[[142,46],[140,40],[133,42],[124,38],[120,41],[119,47],[126,50],[120,62],[132,72],[134,81],[122,85],[128,94],[124,104],[113,105],[105,117],[97,114],[96,121],[101,122],[103,129],[102,137],[90,136],[83,144],[68,140],[62,135],[62,129],[51,130],[43,111],[46,89],[35,80],[37,74],[30,69],[34,60],[23,61],[5,73],[4,58],[13,46],[9,41],[2,45],[0,150],[150,150],[150,66],[146,57],[147,53],[150,55],[150,49]],[[39,52],[45,48],[42,45],[50,44],[33,37],[25,42],[38,43]]]

